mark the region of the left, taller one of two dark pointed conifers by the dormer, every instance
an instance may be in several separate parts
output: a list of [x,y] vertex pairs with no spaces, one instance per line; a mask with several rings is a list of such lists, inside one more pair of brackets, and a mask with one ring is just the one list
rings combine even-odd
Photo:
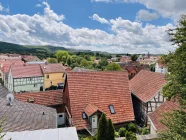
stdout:
[[103,113],[98,123],[97,140],[105,140],[106,136],[107,136],[107,119],[106,119],[106,115]]

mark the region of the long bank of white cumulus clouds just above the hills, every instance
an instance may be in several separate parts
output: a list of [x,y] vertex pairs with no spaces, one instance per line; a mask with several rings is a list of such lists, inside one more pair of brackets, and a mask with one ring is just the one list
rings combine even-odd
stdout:
[[[63,23],[64,15],[55,13],[47,2],[44,14],[0,14],[0,40],[26,45],[54,45],[112,53],[166,53],[175,48],[167,33],[172,24],[154,26],[118,17],[106,21],[110,33],[88,28],[74,29]],[[98,16],[99,17],[99,16]]]

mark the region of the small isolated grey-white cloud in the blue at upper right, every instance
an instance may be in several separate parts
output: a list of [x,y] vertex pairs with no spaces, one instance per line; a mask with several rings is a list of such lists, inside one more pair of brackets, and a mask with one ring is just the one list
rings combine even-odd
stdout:
[[138,11],[136,16],[136,20],[138,21],[151,21],[157,18],[159,18],[159,15],[156,12],[151,13],[148,10],[144,10],[144,9]]

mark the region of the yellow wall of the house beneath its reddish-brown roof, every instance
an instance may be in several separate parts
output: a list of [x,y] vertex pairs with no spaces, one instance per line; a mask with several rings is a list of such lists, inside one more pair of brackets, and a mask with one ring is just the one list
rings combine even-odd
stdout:
[[[49,78],[47,78],[47,75],[49,75]],[[50,74],[44,74],[44,89],[49,88],[52,85],[57,86],[58,83],[64,83],[63,73],[50,73]]]

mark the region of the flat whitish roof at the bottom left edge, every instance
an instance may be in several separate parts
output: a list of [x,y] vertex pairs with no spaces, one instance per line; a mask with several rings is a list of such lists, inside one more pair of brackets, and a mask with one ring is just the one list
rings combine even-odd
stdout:
[[75,127],[8,132],[3,140],[78,140]]

